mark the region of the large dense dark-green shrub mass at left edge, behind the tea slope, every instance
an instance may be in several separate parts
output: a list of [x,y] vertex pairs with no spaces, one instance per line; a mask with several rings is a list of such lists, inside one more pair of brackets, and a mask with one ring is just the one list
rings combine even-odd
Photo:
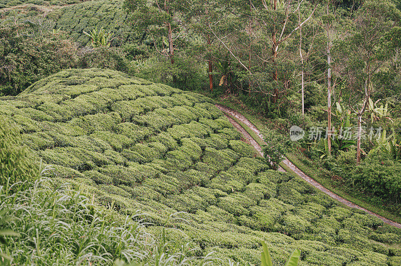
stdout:
[[0,95],[17,95],[35,81],[72,67],[75,47],[62,33],[17,36],[14,25],[0,26]]

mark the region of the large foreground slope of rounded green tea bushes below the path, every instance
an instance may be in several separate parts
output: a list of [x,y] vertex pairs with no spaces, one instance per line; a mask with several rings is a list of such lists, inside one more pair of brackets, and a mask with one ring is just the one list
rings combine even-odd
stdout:
[[[2,118],[3,116],[3,118]],[[36,156],[122,214],[147,213],[158,234],[193,240],[198,255],[275,265],[294,248],[299,265],[401,265],[401,230],[349,210],[266,163],[213,101],[113,70],[71,69],[0,97]],[[188,247],[190,248],[190,247]]]

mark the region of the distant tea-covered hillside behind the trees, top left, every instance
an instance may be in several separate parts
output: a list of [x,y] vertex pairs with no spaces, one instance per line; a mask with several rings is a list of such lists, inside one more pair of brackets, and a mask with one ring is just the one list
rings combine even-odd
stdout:
[[96,26],[104,27],[113,33],[113,44],[120,45],[131,41],[136,42],[143,34],[143,32],[132,30],[132,23],[128,21],[128,14],[122,4],[122,0],[0,0],[0,8],[15,6],[14,9],[5,9],[0,12],[0,18],[14,19],[14,11],[21,21],[45,17],[52,21],[52,27],[67,32],[79,46],[84,46],[90,41],[83,31],[89,32]]

